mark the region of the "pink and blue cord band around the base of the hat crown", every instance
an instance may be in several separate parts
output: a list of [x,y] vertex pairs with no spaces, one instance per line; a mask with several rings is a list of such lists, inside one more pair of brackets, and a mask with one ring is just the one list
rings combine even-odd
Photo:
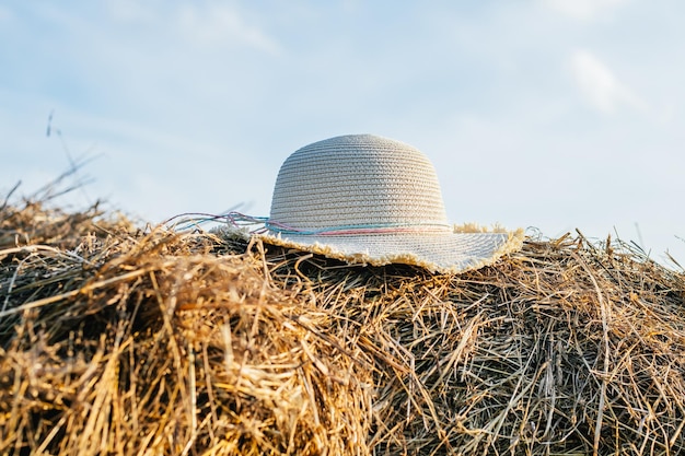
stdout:
[[283,223],[267,220],[264,226],[278,234],[293,234],[299,236],[353,236],[365,234],[396,234],[396,233],[444,233],[451,227],[444,223],[363,223],[353,225],[332,226],[320,230],[300,230]]

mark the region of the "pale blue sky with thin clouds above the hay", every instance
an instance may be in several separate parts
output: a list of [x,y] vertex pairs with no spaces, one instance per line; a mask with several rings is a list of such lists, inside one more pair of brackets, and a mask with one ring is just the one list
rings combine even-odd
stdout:
[[0,195],[91,157],[71,204],[266,215],[290,153],[369,132],[431,159],[455,223],[617,231],[685,266],[684,14],[675,0],[4,1]]

